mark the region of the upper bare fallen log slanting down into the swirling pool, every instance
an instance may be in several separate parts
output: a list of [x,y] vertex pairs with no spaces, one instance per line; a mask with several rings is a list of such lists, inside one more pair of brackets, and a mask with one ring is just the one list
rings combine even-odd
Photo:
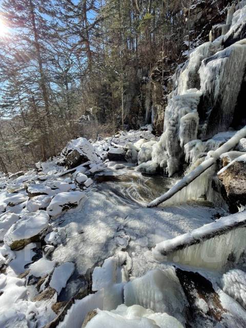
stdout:
[[182,178],[182,180],[178,181],[176,185],[174,185],[168,192],[161,195],[160,197],[152,200],[147,207],[155,207],[159,204],[163,203],[164,201],[170,199],[172,196],[174,196],[176,193],[178,193],[183,188],[187,187],[192,181],[194,181],[199,175],[201,175],[203,172],[205,172],[207,169],[212,167],[217,159],[220,158],[220,156],[223,153],[229,152],[231,149],[233,149],[239,142],[239,140],[246,136],[246,127],[239,130],[235,135],[229,139],[225,144],[220,146],[215,151],[210,151],[208,153],[208,159],[204,160],[195,170],[193,170],[191,173],[187,174],[185,177]]

